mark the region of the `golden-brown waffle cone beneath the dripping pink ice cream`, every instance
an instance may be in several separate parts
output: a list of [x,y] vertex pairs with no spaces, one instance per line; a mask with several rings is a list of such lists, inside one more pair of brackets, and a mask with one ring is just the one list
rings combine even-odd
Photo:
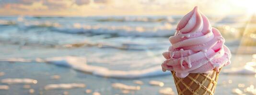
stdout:
[[171,72],[178,95],[213,95],[220,73],[213,70],[209,74],[189,74],[185,78],[179,78],[174,71]]

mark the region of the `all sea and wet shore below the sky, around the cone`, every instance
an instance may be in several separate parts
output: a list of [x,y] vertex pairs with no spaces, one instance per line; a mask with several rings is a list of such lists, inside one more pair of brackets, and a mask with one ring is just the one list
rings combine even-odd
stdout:
[[[0,95],[176,95],[161,64],[181,17],[0,17]],[[233,56],[215,95],[256,94],[256,37],[216,18]]]

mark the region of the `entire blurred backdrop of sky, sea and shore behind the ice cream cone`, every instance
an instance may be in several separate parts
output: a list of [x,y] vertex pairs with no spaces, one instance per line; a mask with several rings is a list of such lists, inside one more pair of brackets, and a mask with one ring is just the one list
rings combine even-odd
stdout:
[[177,95],[162,53],[195,6],[231,49],[215,95],[256,95],[255,0],[0,0],[0,95]]

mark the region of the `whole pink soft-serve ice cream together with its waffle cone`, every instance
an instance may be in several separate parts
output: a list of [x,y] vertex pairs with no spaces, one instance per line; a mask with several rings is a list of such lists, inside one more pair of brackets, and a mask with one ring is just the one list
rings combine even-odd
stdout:
[[178,95],[213,95],[220,70],[231,58],[221,32],[195,7],[178,22],[169,41],[161,66],[172,72]]

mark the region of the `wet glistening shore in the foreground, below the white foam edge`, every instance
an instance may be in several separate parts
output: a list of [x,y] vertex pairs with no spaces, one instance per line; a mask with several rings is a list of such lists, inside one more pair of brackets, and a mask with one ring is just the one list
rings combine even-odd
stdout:
[[[137,79],[104,78],[67,67],[33,62],[1,63],[0,69],[4,72],[0,76],[1,95],[177,94],[171,75]],[[255,94],[255,79],[255,76],[221,74],[215,95]]]

